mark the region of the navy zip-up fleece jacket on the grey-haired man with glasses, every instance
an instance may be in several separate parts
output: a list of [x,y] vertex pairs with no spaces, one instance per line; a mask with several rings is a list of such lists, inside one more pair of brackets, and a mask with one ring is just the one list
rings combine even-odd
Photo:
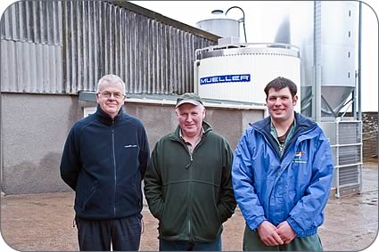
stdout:
[[140,215],[141,181],[150,149],[144,126],[121,110],[112,119],[100,106],[76,122],[64,145],[61,176],[74,191],[81,218]]

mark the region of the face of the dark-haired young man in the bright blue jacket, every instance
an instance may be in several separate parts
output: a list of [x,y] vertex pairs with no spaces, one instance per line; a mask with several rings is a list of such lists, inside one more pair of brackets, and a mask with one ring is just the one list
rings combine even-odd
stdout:
[[268,113],[274,121],[285,121],[292,117],[294,106],[298,101],[298,96],[292,95],[288,87],[284,87],[280,90],[270,88],[268,90],[268,98],[266,102],[268,104]]

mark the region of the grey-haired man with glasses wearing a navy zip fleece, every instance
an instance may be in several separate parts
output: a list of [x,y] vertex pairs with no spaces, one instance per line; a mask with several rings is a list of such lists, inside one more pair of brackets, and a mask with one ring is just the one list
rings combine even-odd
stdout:
[[76,192],[80,250],[139,248],[150,150],[142,123],[122,110],[124,93],[121,78],[102,77],[95,114],[76,122],[64,145],[61,175]]

